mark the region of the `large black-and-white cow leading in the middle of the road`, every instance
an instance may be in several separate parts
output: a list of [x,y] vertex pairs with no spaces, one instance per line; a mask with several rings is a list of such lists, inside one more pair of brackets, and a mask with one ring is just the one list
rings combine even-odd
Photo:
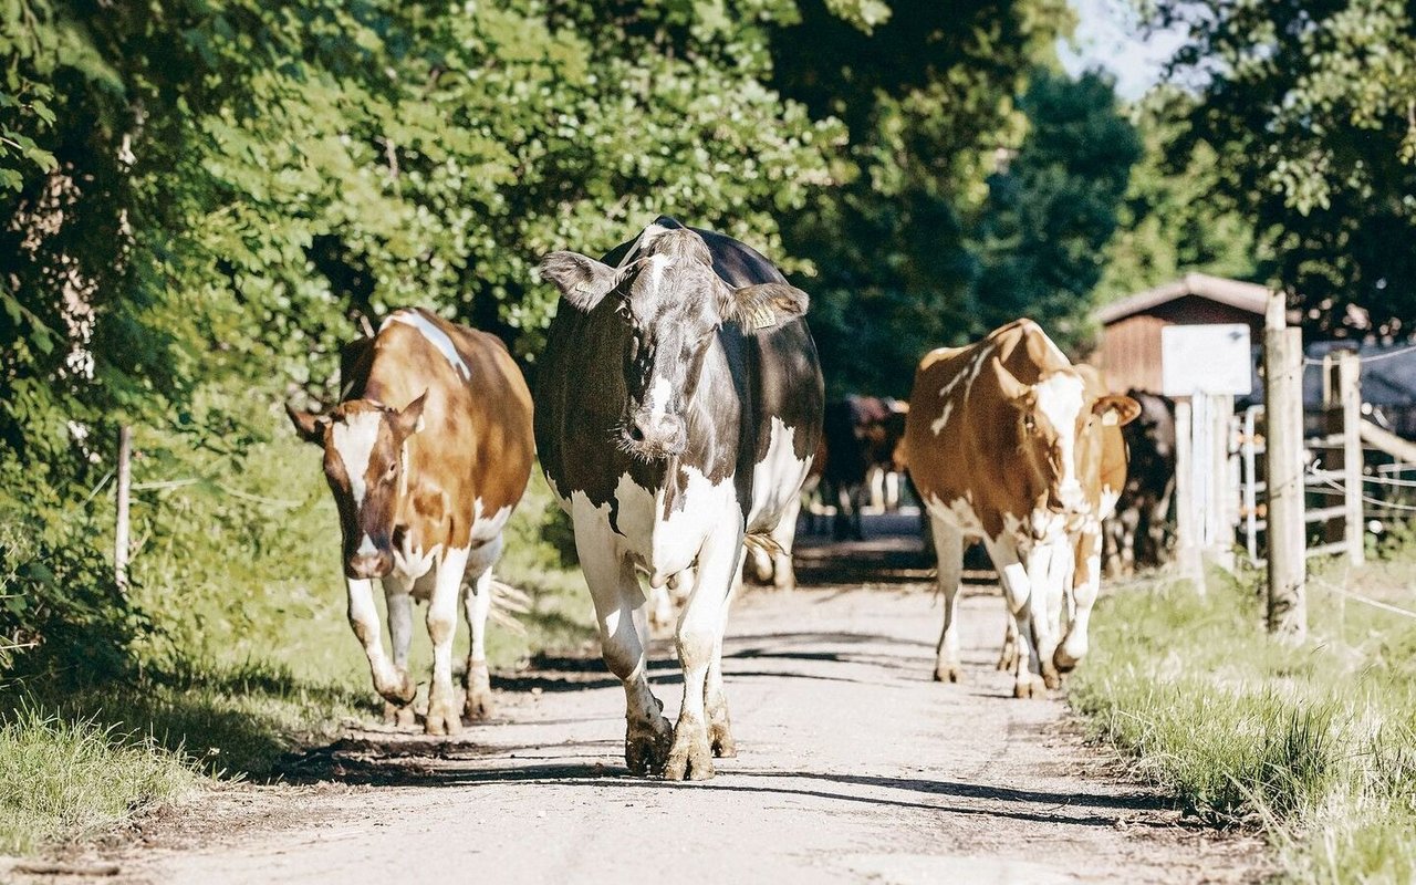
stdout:
[[[712,756],[735,753],[722,637],[743,542],[772,544],[821,435],[807,296],[756,251],[673,218],[603,261],[552,252],[541,275],[562,297],[537,372],[537,447],[624,683],[624,760],[711,777]],[[692,579],[673,729],[646,678],[640,572],[653,588]]]

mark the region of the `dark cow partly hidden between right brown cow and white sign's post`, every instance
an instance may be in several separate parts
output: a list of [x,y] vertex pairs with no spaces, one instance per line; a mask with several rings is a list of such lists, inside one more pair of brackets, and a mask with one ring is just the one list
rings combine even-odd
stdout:
[[1170,559],[1170,501],[1175,493],[1175,404],[1144,391],[1127,391],[1140,415],[1121,432],[1129,452],[1126,487],[1106,521],[1106,571],[1130,575],[1137,566]]

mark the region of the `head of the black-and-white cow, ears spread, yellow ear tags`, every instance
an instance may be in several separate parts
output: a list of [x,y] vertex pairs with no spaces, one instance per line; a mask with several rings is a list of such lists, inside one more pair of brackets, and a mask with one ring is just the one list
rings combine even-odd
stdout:
[[786,283],[733,289],[714,272],[702,236],[684,228],[649,231],[653,238],[641,235],[634,261],[623,268],[552,252],[541,262],[541,276],[575,310],[613,304],[627,327],[616,443],[654,460],[683,453],[688,442],[685,406],[718,327],[736,323],[748,334],[776,327],[806,313],[807,296]]

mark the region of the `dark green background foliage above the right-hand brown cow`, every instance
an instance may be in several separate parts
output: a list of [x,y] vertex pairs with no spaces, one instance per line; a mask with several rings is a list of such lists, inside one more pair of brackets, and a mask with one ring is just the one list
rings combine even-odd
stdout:
[[851,132],[786,222],[835,394],[908,395],[925,351],[1024,314],[1075,341],[1138,153],[1107,84],[1048,72],[1065,3],[892,6],[865,33],[803,3],[773,41],[782,91]]

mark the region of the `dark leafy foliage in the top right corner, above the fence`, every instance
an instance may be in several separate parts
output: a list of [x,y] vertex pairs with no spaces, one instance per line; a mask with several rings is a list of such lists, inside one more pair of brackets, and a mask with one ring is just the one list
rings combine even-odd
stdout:
[[1412,334],[1416,303],[1416,13],[1403,0],[1157,0],[1201,85],[1172,142],[1201,144],[1215,195],[1249,218],[1321,334]]

